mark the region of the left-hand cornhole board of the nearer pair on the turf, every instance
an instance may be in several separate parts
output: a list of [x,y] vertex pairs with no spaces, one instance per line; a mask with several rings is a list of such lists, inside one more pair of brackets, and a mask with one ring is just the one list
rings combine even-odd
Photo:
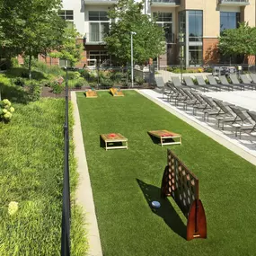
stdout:
[[[105,149],[128,149],[128,138],[123,137],[119,133],[101,134],[102,140],[105,142]],[[121,142],[120,146],[115,145],[115,143]]]

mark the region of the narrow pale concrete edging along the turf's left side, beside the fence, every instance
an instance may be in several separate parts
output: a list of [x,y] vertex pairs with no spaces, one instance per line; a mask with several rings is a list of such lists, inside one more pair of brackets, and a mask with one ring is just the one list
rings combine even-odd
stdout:
[[78,188],[76,190],[76,202],[84,209],[84,223],[89,243],[89,256],[102,256],[102,245],[98,229],[95,207],[93,202],[93,190],[91,187],[88,165],[84,151],[84,139],[82,134],[80,116],[76,103],[76,93],[71,92],[71,102],[74,106],[74,143],[75,159],[77,160],[77,172],[79,173]]

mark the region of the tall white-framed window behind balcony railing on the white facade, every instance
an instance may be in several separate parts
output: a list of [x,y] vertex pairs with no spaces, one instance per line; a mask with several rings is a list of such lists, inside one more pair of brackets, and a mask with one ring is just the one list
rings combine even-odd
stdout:
[[105,33],[110,29],[110,19],[107,12],[90,11],[89,12],[90,26],[90,42],[99,42],[104,38]]

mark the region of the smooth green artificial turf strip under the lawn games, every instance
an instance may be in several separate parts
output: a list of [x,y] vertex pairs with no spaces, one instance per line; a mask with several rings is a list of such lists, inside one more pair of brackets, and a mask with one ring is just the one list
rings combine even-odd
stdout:
[[[255,255],[256,166],[135,91],[125,97],[77,93],[104,255]],[[182,146],[154,144],[147,131],[180,133]],[[128,137],[128,150],[105,151],[100,134]],[[160,199],[166,148],[199,178],[207,239],[185,240],[186,219]],[[154,213],[150,200],[160,200]]]

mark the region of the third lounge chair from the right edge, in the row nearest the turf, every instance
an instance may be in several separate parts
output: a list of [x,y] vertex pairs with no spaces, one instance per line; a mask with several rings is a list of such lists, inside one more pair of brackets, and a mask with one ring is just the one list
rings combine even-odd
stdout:
[[213,101],[216,102],[216,105],[223,111],[223,114],[221,116],[216,117],[218,128],[220,123],[222,123],[222,129],[224,129],[225,123],[234,123],[235,121],[239,120],[238,116],[234,114],[234,111],[230,109],[230,106],[232,106],[232,104],[228,102],[222,102],[216,99],[213,99]]

